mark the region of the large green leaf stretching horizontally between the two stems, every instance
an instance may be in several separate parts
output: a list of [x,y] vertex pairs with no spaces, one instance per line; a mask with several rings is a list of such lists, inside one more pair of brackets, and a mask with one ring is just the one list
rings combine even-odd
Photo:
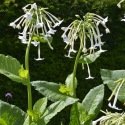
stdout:
[[51,101],[59,101],[59,100],[78,100],[76,98],[70,97],[66,94],[63,94],[59,91],[60,85],[53,82],[47,82],[47,81],[33,81],[31,82],[32,86],[35,87],[35,89],[46,96]]

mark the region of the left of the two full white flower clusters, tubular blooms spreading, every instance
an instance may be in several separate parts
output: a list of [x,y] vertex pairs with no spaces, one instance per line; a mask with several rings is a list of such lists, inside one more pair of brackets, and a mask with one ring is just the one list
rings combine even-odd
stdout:
[[36,60],[42,60],[43,58],[40,57],[40,37],[53,49],[49,39],[56,32],[54,28],[59,26],[63,20],[59,20],[46,11],[47,8],[39,8],[36,3],[28,4],[22,9],[25,14],[10,23],[10,26],[18,29],[23,28],[18,38],[24,44],[32,40],[31,43],[36,47],[38,46],[38,58]]

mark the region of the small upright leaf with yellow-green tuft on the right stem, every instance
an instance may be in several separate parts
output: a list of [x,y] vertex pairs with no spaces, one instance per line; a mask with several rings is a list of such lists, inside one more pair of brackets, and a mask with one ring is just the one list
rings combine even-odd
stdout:
[[70,75],[68,75],[68,77],[66,78],[65,84],[66,84],[66,86],[70,89],[69,94],[70,94],[71,96],[73,96],[73,95],[74,95],[74,90],[73,90],[73,88],[74,88],[74,89],[77,88],[77,79],[76,79],[76,78],[75,78],[75,85],[73,85],[73,73],[70,74]]

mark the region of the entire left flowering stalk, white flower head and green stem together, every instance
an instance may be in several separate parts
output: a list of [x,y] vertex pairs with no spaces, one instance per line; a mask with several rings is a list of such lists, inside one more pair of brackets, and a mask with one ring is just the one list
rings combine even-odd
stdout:
[[[27,85],[28,94],[28,112],[32,112],[32,92],[30,84],[29,73],[29,53],[30,46],[33,44],[38,46],[38,58],[35,60],[43,60],[40,57],[40,43],[48,43],[51,46],[52,35],[56,32],[55,27],[59,26],[63,20],[59,20],[57,17],[47,11],[47,8],[39,8],[36,3],[28,4],[22,8],[24,14],[17,18],[14,22],[10,23],[10,26],[19,30],[23,29],[18,38],[23,44],[27,44],[25,53],[25,69],[19,70],[19,76],[24,79]],[[32,116],[29,115],[29,124],[32,122]]]

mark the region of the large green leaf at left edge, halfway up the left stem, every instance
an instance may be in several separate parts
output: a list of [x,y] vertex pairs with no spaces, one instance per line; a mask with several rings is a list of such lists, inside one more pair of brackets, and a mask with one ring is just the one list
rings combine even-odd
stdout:
[[22,79],[19,77],[19,69],[21,64],[18,60],[11,56],[5,56],[0,54],[0,73],[7,76],[13,81],[22,82]]

